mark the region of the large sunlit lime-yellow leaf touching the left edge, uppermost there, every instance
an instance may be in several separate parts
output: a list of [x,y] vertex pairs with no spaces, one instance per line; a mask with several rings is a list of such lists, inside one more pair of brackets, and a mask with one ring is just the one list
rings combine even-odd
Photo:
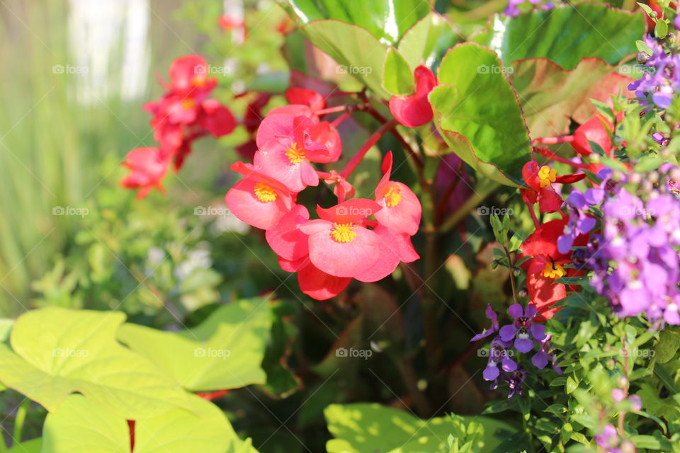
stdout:
[[186,407],[187,394],[115,341],[120,311],[48,308],[19,316],[0,343],[0,382],[53,412],[74,392],[129,419]]

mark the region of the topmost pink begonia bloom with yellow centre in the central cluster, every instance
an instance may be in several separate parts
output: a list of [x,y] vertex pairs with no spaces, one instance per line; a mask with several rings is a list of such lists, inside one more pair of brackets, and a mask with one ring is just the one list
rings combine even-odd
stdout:
[[312,127],[312,121],[303,116],[267,116],[257,131],[256,171],[280,180],[295,193],[318,185],[319,176],[310,161],[328,161],[329,151],[312,141]]

